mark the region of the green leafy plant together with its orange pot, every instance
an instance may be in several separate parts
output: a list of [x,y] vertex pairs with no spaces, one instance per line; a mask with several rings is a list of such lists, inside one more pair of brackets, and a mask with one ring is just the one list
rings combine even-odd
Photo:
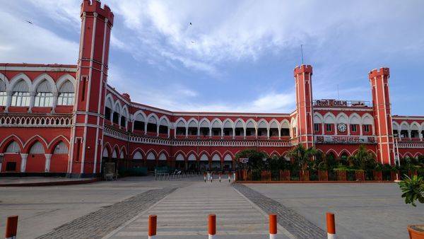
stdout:
[[[416,206],[416,202],[424,204],[424,180],[423,177],[418,177],[413,175],[408,177],[405,175],[406,179],[399,182],[399,187],[401,188],[403,194],[402,197],[405,198],[406,204],[411,204]],[[408,225],[409,238],[424,238],[424,225]]]

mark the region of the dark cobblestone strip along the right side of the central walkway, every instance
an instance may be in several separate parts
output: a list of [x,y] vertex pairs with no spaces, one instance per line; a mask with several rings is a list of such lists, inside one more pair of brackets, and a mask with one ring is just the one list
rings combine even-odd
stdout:
[[326,233],[314,223],[307,221],[306,218],[297,212],[283,206],[276,200],[264,196],[263,194],[252,190],[250,187],[240,183],[232,183],[237,191],[245,195],[250,201],[257,204],[268,214],[277,214],[278,224],[283,226],[288,232],[297,238],[326,238]]

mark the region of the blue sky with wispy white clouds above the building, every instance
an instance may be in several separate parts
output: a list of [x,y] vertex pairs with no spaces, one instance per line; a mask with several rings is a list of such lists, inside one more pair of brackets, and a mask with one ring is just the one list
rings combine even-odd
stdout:
[[[0,2],[0,62],[76,64],[81,1]],[[371,100],[367,74],[384,66],[392,114],[424,115],[424,1],[102,4],[114,12],[108,82],[138,103],[293,112],[302,45],[315,100]]]

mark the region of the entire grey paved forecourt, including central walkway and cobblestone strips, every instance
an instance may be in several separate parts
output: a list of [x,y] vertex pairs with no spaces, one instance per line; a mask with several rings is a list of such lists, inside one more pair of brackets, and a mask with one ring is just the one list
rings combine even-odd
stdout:
[[336,214],[340,238],[406,238],[424,223],[424,206],[405,205],[396,184],[251,184],[202,177],[50,187],[0,187],[0,232],[19,215],[18,238],[147,238],[158,215],[160,238],[205,238],[217,215],[220,238],[267,238],[267,213],[278,214],[278,238],[325,236],[325,212]]

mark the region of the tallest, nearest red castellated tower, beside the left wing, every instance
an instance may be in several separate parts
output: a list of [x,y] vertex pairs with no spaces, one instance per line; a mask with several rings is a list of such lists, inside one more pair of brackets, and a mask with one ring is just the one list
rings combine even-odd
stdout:
[[93,176],[101,170],[107,62],[113,18],[110,8],[102,7],[100,1],[83,0],[68,165],[68,173],[73,177]]

